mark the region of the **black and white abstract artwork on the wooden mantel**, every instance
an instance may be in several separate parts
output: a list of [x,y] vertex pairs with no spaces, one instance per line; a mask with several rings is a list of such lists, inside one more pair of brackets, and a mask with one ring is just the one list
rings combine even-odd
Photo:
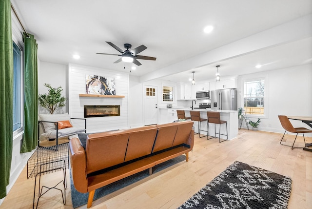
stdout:
[[86,94],[116,95],[115,78],[86,75]]

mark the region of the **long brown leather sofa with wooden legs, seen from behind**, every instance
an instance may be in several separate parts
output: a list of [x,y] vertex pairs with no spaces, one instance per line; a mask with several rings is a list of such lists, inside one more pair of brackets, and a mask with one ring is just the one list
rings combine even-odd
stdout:
[[194,146],[193,121],[150,125],[127,130],[89,134],[86,148],[78,138],[69,143],[75,188],[89,192],[87,208],[94,192],[122,178],[188,153]]

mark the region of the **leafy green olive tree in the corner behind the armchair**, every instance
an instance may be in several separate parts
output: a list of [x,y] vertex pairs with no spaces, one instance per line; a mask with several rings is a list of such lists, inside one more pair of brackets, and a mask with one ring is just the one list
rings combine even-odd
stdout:
[[66,105],[67,98],[62,96],[63,88],[61,86],[57,88],[52,88],[50,84],[44,84],[44,86],[49,89],[49,93],[39,94],[39,104],[53,114],[57,108]]

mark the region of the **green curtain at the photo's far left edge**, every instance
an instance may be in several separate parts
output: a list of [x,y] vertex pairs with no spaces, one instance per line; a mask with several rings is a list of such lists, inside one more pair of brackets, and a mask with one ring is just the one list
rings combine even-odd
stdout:
[[13,145],[13,41],[11,2],[0,0],[0,199],[10,182]]

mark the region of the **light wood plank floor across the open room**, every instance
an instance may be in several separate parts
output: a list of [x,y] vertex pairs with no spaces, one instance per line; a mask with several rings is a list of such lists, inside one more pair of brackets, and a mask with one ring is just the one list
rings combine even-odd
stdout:
[[[282,134],[239,130],[237,139],[218,143],[195,135],[195,146],[189,162],[181,162],[138,183],[120,189],[93,202],[93,209],[175,209],[200,188],[215,178],[234,161],[261,167],[292,178],[289,209],[311,209],[312,206],[312,152],[281,146]],[[294,135],[286,136],[286,143],[293,142]],[[311,143],[312,138],[306,137]],[[297,139],[298,145],[303,138]],[[2,209],[30,209],[33,204],[34,178],[27,179],[26,168],[0,206]],[[42,185],[54,186],[62,178],[61,173],[42,176]],[[70,177],[66,205],[59,192],[50,191],[40,198],[44,209],[71,209]],[[51,185],[52,184],[52,185]],[[85,206],[79,209],[85,209]]]

